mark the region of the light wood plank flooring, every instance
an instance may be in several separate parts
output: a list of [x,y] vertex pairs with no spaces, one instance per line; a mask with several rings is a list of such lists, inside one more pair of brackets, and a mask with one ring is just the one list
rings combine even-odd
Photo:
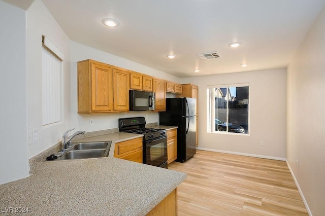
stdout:
[[285,161],[200,151],[169,169],[187,173],[178,215],[308,215]]

